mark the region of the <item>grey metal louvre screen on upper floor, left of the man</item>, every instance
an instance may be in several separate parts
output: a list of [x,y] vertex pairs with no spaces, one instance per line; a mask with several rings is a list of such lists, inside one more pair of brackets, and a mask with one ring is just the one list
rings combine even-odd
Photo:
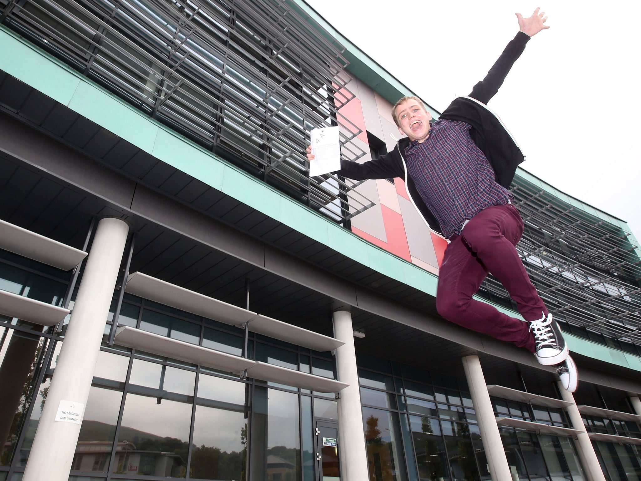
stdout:
[[[317,126],[354,98],[339,47],[285,1],[16,0],[0,20],[146,114],[335,221],[373,203],[335,176],[310,178]],[[340,92],[340,94],[338,93]]]

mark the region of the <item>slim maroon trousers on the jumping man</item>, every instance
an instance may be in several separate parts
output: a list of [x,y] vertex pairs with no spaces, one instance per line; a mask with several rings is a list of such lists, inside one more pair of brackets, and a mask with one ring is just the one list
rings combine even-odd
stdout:
[[517,303],[526,321],[547,316],[547,308],[529,280],[515,246],[523,221],[512,205],[495,205],[476,214],[445,249],[438,275],[437,310],[445,319],[535,351],[529,324],[472,299],[492,273]]

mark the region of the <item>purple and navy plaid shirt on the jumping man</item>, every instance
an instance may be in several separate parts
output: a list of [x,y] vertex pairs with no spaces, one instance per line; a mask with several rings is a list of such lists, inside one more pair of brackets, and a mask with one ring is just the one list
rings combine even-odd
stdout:
[[461,233],[465,219],[512,198],[494,180],[492,165],[470,138],[470,128],[441,119],[424,142],[413,140],[405,149],[408,175],[447,239]]

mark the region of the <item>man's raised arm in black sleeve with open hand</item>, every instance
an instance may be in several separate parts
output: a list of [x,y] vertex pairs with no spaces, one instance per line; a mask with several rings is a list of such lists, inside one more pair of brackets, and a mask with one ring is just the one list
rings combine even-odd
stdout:
[[539,13],[538,10],[537,8],[531,17],[528,18],[524,18],[520,13],[516,14],[519,20],[519,33],[517,33],[516,37],[505,47],[505,50],[494,65],[492,65],[492,68],[487,72],[485,78],[474,85],[474,89],[472,89],[472,93],[469,95],[470,97],[487,104],[488,101],[495,96],[496,92],[499,91],[499,87],[503,85],[505,77],[525,49],[525,44],[528,40],[533,37],[533,35],[537,35],[541,30],[549,28],[549,26],[545,25],[545,21],[547,21],[545,12]]

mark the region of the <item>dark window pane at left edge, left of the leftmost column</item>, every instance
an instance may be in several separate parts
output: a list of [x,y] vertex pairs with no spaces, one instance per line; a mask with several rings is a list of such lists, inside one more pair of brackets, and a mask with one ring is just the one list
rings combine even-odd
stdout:
[[[8,466],[20,435],[22,416],[38,391],[42,337],[0,328],[0,465]],[[38,402],[39,400],[36,400]],[[38,405],[34,412],[39,412]],[[38,419],[40,418],[38,414]],[[29,423],[30,424],[30,423]]]

